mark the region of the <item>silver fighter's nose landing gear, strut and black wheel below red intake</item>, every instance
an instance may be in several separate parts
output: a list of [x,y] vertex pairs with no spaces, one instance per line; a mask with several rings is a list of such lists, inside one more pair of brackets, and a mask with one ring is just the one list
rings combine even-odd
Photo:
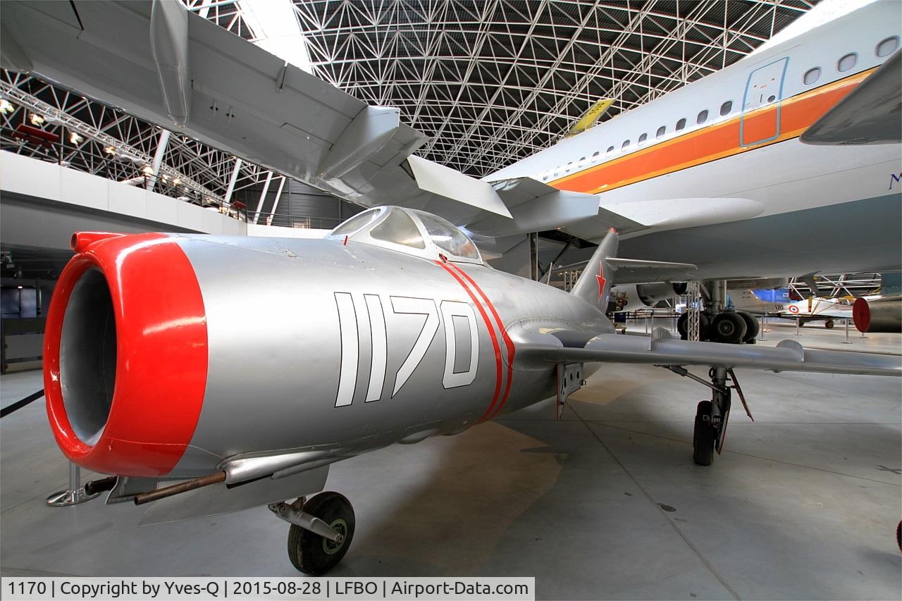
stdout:
[[288,559],[305,574],[319,576],[335,568],[354,539],[354,508],[344,495],[302,496],[294,503],[272,503],[269,508],[291,524]]

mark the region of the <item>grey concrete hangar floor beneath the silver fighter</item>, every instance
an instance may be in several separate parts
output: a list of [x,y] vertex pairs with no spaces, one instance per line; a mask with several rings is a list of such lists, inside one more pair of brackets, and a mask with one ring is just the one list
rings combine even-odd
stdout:
[[[795,338],[770,330],[764,344]],[[801,333],[809,347],[902,342]],[[756,421],[733,412],[712,467],[691,456],[704,389],[630,365],[595,374],[562,421],[543,402],[336,464],[327,488],[354,503],[357,530],[331,575],[535,576],[538,598],[899,598],[902,382],[739,376]],[[40,372],[5,375],[2,405],[39,388]],[[42,402],[3,419],[3,576],[299,575],[265,508],[138,528],[131,504],[46,506],[67,473]]]

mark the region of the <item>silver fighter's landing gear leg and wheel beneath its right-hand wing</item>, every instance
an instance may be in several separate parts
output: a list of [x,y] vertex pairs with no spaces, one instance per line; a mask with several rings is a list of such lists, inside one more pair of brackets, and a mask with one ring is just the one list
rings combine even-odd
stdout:
[[[692,378],[711,389],[711,400],[699,402],[695,408],[695,430],[692,436],[692,458],[699,466],[710,466],[714,460],[714,451],[720,455],[723,442],[726,440],[727,422],[730,419],[731,391],[739,395],[742,407],[751,421],[749,405],[745,402],[736,374],[726,367],[712,367],[708,371],[711,384],[695,374],[690,374],[685,367],[668,365],[667,369],[674,374]],[[730,383],[728,385],[728,383]]]

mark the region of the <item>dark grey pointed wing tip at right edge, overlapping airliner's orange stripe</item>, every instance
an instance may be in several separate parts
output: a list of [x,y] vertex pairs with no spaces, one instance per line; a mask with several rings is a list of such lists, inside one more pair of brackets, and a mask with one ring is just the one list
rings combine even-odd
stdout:
[[815,121],[806,144],[887,144],[902,141],[902,51]]

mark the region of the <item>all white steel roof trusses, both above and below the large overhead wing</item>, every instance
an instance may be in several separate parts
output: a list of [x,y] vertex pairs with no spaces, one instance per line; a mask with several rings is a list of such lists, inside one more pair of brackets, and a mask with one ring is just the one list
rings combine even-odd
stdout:
[[[182,2],[253,41],[240,2]],[[367,103],[400,107],[407,123],[430,136],[421,155],[474,176],[555,143],[599,97],[616,99],[605,120],[732,64],[814,4],[293,0],[318,77]],[[29,75],[0,71],[0,96],[12,104],[0,115],[0,148],[112,180],[143,178],[161,140],[156,125]],[[62,143],[13,137],[41,110],[52,117],[41,129]],[[260,190],[270,176],[173,132],[153,174],[155,190],[221,203],[236,165],[234,190]]]

